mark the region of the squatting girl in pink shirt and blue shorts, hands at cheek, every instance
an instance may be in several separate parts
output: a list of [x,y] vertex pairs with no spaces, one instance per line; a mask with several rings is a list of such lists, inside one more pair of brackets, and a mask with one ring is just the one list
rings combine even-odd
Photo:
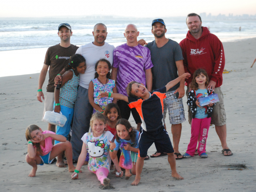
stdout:
[[[37,125],[29,125],[26,130],[26,139],[28,141],[26,161],[33,167],[28,175],[29,177],[36,176],[38,164],[51,164],[53,159],[64,151],[68,161],[68,171],[74,172],[76,169],[72,161],[72,146],[63,135],[57,135],[51,131],[42,131]],[[53,146],[52,140],[60,141],[60,143]],[[57,166],[59,166],[58,160]]]

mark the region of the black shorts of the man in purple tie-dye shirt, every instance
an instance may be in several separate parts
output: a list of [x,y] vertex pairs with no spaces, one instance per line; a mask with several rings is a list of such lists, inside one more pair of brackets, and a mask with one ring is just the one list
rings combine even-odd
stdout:
[[132,116],[135,120],[135,123],[138,124],[138,123],[142,123],[141,122],[141,119],[140,119],[140,115],[139,113],[137,112],[137,110],[135,108],[130,108],[128,106],[129,103],[127,103],[126,101],[123,101],[123,100],[118,100],[117,102],[117,105],[121,111],[121,116],[122,118],[126,119],[126,120],[129,120],[130,118],[130,115],[131,115],[131,112],[132,112]]

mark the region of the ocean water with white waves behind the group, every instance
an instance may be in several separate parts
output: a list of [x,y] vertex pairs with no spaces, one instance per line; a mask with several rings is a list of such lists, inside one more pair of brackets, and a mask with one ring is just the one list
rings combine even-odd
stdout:
[[[186,37],[188,28],[184,20],[164,20],[167,28],[166,37],[180,42]],[[82,45],[92,42],[92,30],[96,23],[107,26],[106,42],[125,42],[124,28],[133,23],[140,31],[138,39],[154,40],[149,19],[112,19],[112,20],[83,20],[83,19],[8,19],[0,20],[0,51],[45,48],[60,43],[57,35],[60,23],[71,25],[73,36],[71,43]],[[203,20],[204,27],[210,27],[211,33],[221,41],[235,41],[256,36],[254,20]],[[239,31],[241,27],[241,31]]]

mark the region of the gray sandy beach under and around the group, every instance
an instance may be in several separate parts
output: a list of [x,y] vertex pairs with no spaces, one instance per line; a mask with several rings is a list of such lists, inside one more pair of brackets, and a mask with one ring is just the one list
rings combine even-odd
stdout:
[[[256,191],[256,102],[253,99],[256,94],[256,66],[250,68],[255,59],[255,44],[256,38],[223,43],[225,69],[228,73],[223,74],[221,89],[227,114],[227,143],[234,155],[221,154],[220,140],[214,126],[210,126],[206,145],[209,157],[202,159],[195,156],[176,161],[177,171],[184,180],[178,181],[171,177],[171,168],[167,156],[164,156],[150,158],[144,162],[138,186],[130,185],[135,176],[125,180],[124,177],[116,178],[115,175],[109,174],[110,185],[114,187],[109,190]],[[45,51],[40,54],[44,55]],[[42,64],[42,60],[35,60],[35,65]],[[26,66],[26,61],[23,60],[21,65]],[[37,124],[43,130],[47,129],[47,123],[41,121],[44,103],[36,99],[38,77],[39,73],[0,77],[0,191],[99,191],[100,181],[88,171],[86,165],[82,167],[83,172],[79,174],[78,180],[71,180],[72,173],[68,172],[67,167],[59,168],[55,164],[38,166],[36,177],[28,177],[32,167],[25,161],[28,143],[25,138],[26,127],[29,124]],[[48,80],[45,80],[44,94],[47,83]],[[187,99],[183,98],[187,117],[186,102]],[[130,119],[130,122],[135,125],[133,119]],[[166,122],[169,122],[168,117]],[[169,123],[167,131],[172,140]],[[188,121],[182,123],[179,145],[181,154],[186,152],[190,131]],[[151,146],[148,155],[155,151],[155,146]],[[247,168],[233,170],[228,166],[230,164],[244,164]]]

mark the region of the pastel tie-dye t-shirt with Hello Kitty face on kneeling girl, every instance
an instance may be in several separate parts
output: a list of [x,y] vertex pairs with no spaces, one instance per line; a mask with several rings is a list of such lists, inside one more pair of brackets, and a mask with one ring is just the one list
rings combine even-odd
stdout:
[[88,168],[95,172],[100,167],[110,170],[111,159],[109,156],[109,146],[114,135],[106,131],[100,137],[93,137],[93,132],[85,133],[82,141],[86,143],[87,153],[89,153]]

